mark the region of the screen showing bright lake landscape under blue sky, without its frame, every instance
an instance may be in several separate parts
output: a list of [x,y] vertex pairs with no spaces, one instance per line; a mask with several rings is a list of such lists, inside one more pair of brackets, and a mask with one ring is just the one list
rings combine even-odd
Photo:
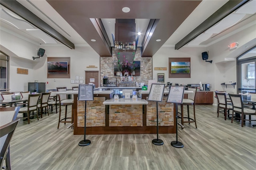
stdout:
[[190,73],[190,62],[171,62],[171,73]]

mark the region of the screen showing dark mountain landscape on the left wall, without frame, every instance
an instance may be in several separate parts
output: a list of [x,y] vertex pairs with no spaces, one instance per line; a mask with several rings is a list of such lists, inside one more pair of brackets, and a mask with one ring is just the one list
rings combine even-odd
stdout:
[[67,74],[68,62],[67,61],[47,61],[47,71],[49,74]]

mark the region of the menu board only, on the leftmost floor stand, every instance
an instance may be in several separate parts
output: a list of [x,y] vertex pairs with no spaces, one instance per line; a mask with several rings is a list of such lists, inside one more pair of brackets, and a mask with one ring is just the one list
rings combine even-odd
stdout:
[[94,100],[93,85],[80,84],[78,88],[78,101]]

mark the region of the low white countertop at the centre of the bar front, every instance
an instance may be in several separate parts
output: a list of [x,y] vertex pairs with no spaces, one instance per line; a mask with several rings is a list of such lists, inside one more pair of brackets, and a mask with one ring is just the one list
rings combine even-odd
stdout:
[[138,101],[132,101],[132,99],[119,99],[114,101],[114,99],[108,99],[103,102],[103,105],[147,105],[148,101],[145,99],[138,98]]

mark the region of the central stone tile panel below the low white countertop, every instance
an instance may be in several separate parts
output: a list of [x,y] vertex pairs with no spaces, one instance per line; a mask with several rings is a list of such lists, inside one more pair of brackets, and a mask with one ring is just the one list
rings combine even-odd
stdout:
[[110,105],[110,127],[142,126],[142,105]]

